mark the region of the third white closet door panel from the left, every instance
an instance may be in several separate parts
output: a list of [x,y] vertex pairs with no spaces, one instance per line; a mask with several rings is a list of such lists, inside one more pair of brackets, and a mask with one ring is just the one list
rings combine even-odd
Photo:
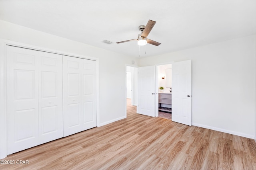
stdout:
[[63,134],[64,137],[82,129],[82,90],[80,59],[63,56]]

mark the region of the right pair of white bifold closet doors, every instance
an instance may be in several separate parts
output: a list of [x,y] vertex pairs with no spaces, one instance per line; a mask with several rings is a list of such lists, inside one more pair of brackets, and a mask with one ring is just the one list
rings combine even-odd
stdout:
[[96,61],[63,56],[64,137],[96,126]]

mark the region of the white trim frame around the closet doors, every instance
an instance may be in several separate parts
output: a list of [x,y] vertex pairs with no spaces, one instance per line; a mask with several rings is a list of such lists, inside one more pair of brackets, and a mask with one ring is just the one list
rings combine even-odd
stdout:
[[37,51],[44,51],[48,53],[56,53],[60,55],[67,55],[70,57],[77,57],[82,59],[94,60],[96,61],[96,116],[97,116],[97,127],[100,124],[100,85],[99,85],[99,59],[95,57],[89,57],[85,55],[78,55],[74,53],[68,53],[65,51],[58,51],[54,49],[48,49],[44,47],[38,47],[34,45],[29,45],[25,43],[18,43],[15,41],[10,41],[6,39],[0,39],[0,159],[7,156],[7,94],[6,94],[6,45],[11,45],[15,47],[21,47],[26,49],[32,49]]

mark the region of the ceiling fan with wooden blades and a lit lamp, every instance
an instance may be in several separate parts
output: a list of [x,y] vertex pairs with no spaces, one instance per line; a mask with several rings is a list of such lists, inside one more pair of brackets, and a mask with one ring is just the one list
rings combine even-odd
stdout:
[[145,25],[139,26],[139,30],[141,31],[141,33],[138,35],[137,39],[120,41],[120,42],[117,42],[117,44],[126,43],[129,41],[138,41],[138,45],[146,45],[147,43],[156,45],[156,46],[160,45],[161,43],[158,43],[156,41],[153,41],[153,40],[147,38],[148,34],[150,33],[151,29],[154,27],[155,24],[156,24],[156,21],[148,20],[148,23],[146,26]]

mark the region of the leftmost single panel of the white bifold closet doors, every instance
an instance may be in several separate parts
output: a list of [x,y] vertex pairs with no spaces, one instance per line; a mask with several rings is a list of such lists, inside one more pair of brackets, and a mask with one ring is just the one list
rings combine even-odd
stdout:
[[38,145],[38,52],[6,47],[7,154]]

